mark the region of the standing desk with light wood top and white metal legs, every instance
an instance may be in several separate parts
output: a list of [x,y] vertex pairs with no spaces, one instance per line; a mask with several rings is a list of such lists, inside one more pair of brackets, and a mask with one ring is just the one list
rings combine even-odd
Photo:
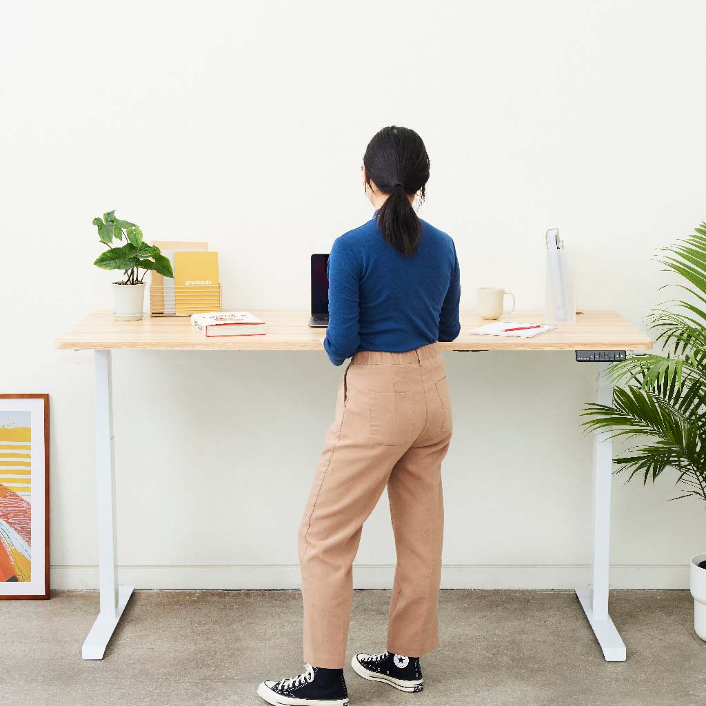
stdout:
[[[107,644],[130,598],[133,587],[118,585],[116,558],[115,457],[111,351],[232,350],[318,351],[323,354],[325,329],[309,328],[309,311],[254,311],[267,322],[267,335],[206,338],[189,317],[164,316],[142,321],[114,321],[110,311],[94,311],[56,340],[59,349],[95,352],[95,470],[98,510],[98,573],[100,613],[83,642],[83,659],[102,659]],[[544,321],[541,311],[515,311],[512,321]],[[508,316],[505,319],[508,320]],[[502,320],[502,317],[501,317]],[[652,340],[613,311],[585,311],[573,324],[534,338],[479,336],[467,333],[483,321],[478,314],[461,313],[461,333],[453,342],[439,343],[446,351],[646,351]],[[613,387],[598,368],[597,402],[610,405]],[[609,430],[594,434],[593,453],[593,563],[592,582],[576,589],[604,657],[626,659],[626,649],[608,614],[611,469],[613,448]]]

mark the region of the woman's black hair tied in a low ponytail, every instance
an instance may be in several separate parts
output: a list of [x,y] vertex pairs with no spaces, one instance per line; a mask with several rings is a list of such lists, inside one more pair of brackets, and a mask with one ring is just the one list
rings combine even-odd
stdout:
[[417,252],[421,222],[408,196],[424,199],[429,181],[429,155],[414,130],[390,126],[373,136],[363,157],[366,183],[389,194],[378,213],[378,226],[388,244],[403,255]]

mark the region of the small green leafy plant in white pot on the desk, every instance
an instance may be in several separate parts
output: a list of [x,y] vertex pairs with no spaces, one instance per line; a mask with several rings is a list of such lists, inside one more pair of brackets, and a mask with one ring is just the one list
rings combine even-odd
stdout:
[[[116,218],[114,210],[104,213],[102,218],[95,217],[93,225],[108,248],[93,264],[103,270],[123,271],[123,280],[113,282],[114,316],[119,321],[138,321],[145,305],[145,275],[148,270],[155,270],[162,277],[174,277],[172,263],[159,248],[145,243],[138,225]],[[123,238],[124,245],[113,245]],[[144,272],[140,274],[140,270]]]

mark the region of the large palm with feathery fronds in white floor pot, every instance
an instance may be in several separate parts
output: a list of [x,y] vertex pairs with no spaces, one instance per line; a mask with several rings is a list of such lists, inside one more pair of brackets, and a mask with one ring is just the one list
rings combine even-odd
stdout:
[[[671,468],[681,486],[673,500],[706,501],[706,223],[661,252],[662,271],[686,280],[665,286],[687,292],[690,301],[670,299],[652,309],[647,322],[663,354],[611,364],[604,374],[616,383],[613,405],[586,405],[582,414],[591,431],[610,427],[613,437],[640,439],[614,459],[616,472],[647,484]],[[690,587],[694,628],[706,640],[706,552],[691,559]]]

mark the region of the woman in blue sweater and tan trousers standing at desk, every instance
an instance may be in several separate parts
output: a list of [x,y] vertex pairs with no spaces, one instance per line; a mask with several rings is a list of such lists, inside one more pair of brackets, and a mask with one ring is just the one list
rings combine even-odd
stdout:
[[451,408],[437,341],[460,333],[460,273],[450,237],[419,220],[429,157],[417,133],[387,127],[363,158],[376,212],[337,238],[328,261],[328,357],[352,357],[299,529],[304,659],[299,676],[264,681],[270,704],[347,706],[343,677],[352,565],[385,486],[397,568],[386,651],[359,652],[360,676],[421,691],[419,657],[438,647],[443,498]]

